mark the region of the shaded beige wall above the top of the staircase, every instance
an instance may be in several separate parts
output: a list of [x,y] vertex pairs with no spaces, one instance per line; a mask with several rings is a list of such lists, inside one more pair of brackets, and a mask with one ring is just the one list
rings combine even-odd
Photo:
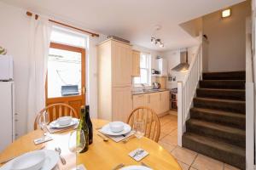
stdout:
[[231,7],[231,16],[222,19],[221,11],[203,17],[203,34],[208,37],[208,71],[245,71],[246,17],[250,2]]

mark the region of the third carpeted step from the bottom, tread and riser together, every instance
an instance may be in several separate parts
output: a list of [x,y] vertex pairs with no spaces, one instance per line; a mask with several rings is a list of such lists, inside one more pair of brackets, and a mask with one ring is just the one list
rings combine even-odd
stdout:
[[193,107],[190,110],[190,117],[207,122],[223,124],[230,127],[237,127],[241,129],[246,128],[246,116],[229,111],[216,111]]

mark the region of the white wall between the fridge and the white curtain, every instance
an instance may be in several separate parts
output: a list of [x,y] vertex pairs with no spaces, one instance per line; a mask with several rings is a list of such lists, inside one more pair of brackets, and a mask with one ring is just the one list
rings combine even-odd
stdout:
[[29,19],[25,10],[0,2],[0,20],[0,46],[7,48],[15,60],[15,112],[19,118],[16,129],[23,134],[26,132]]

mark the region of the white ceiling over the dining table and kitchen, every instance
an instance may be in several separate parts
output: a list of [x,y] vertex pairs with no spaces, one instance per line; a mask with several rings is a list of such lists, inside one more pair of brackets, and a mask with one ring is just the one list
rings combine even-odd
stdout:
[[[243,0],[2,0],[77,26],[130,40],[158,51],[189,47],[196,43],[179,24]],[[150,43],[154,27],[165,43]]]

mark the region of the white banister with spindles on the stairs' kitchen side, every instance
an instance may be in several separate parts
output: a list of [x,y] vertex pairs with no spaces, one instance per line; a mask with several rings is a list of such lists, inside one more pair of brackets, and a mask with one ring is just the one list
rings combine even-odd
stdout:
[[182,146],[182,136],[189,119],[189,110],[193,103],[195,91],[202,74],[202,45],[189,65],[189,70],[183,82],[177,82],[177,144]]

